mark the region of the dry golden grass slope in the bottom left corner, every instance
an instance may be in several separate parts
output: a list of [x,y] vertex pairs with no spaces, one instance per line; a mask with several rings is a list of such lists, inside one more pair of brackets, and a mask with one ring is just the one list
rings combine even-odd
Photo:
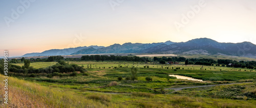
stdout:
[[[3,75],[0,75],[0,80],[4,80]],[[4,82],[1,82],[0,97],[4,96],[4,86]],[[101,102],[68,90],[44,87],[14,77],[8,78],[8,90],[8,105],[2,100],[0,107],[106,107]]]

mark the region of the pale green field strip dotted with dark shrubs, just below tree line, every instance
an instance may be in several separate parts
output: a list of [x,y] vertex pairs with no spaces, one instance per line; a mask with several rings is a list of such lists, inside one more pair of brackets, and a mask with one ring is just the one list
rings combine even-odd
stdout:
[[[51,65],[56,64],[57,62],[34,62],[31,63],[30,66],[33,66],[34,68],[45,68]],[[166,69],[168,67],[168,69],[172,69],[172,67],[177,68],[180,67],[180,69],[184,68],[185,70],[211,70],[211,71],[239,71],[239,69],[241,69],[242,72],[244,71],[252,71],[252,72],[256,72],[255,69],[246,69],[246,68],[232,68],[232,67],[222,67],[222,66],[202,66],[202,65],[184,65],[184,64],[180,64],[180,65],[169,65],[169,64],[155,64],[155,63],[141,63],[141,62],[76,62],[76,61],[69,61],[68,63],[73,63],[73,64],[77,64],[79,66],[84,66],[84,68],[88,69],[88,66],[90,68],[93,69],[102,69],[105,67],[105,69],[108,68],[114,68],[114,67],[128,67],[131,68],[132,66],[138,67],[138,68],[144,68],[144,66],[149,66],[149,68],[164,68]],[[24,63],[17,63],[15,65],[18,66],[23,66]]]

